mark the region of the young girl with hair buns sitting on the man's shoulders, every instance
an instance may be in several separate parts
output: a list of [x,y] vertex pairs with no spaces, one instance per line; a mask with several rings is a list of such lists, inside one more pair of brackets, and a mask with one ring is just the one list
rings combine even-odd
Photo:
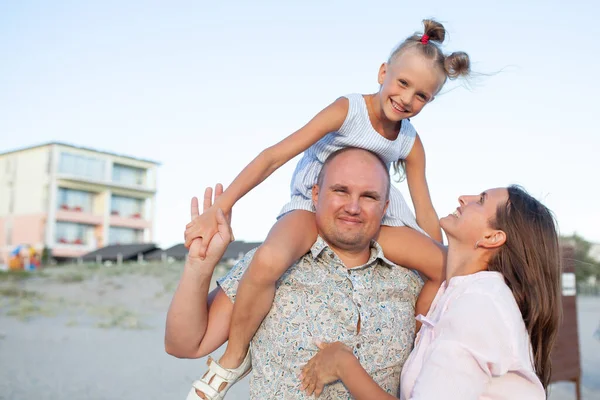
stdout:
[[304,152],[292,178],[291,201],[281,210],[240,283],[228,346],[218,363],[209,361],[211,373],[203,378],[206,390],[202,398],[223,398],[229,387],[250,369],[249,343],[271,308],[277,280],[316,240],[311,189],[323,161],[340,148],[365,148],[393,165],[397,172],[404,169],[416,219],[401,193],[392,186],[377,241],[388,259],[429,279],[416,310],[427,312],[441,284],[445,252],[439,243],[442,233],[425,179],[423,145],[409,118],[433,100],[447,78],[468,74],[469,58],[463,52],[449,56],[442,53],[436,44],[445,37],[441,24],[425,20],[424,28],[423,35],[406,39],[381,65],[379,92],[337,99],[300,130],[259,154],[210,209],[188,224],[186,247],[201,239],[205,250],[217,230],[218,209],[228,212],[277,168]]

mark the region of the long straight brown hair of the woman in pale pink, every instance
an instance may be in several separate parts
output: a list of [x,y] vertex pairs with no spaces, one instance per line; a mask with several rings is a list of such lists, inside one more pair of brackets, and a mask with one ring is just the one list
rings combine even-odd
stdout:
[[561,256],[552,212],[518,186],[508,187],[508,201],[498,207],[494,229],[506,243],[488,269],[504,276],[519,305],[533,349],[533,366],[547,389],[552,374],[550,352],[556,340],[562,306]]

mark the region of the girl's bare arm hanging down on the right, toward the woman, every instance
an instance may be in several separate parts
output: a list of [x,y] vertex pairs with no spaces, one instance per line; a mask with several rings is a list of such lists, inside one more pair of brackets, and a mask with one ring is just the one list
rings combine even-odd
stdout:
[[408,157],[406,157],[405,162],[406,181],[408,182],[408,190],[410,191],[410,197],[415,207],[417,224],[432,239],[441,243],[442,229],[440,228],[438,215],[433,208],[427,179],[425,178],[425,150],[423,149],[423,143],[419,135],[415,138],[413,148]]

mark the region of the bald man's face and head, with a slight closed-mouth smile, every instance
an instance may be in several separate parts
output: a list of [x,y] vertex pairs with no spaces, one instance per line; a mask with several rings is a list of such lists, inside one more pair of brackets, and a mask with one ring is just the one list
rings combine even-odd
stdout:
[[350,150],[327,166],[313,187],[317,230],[332,247],[360,251],[375,238],[388,205],[388,171],[374,155]]

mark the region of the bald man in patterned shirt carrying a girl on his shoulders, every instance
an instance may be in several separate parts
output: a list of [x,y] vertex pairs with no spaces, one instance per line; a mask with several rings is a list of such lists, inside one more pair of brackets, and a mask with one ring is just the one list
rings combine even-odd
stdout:
[[[387,167],[366,150],[340,150],[323,165],[313,188],[319,238],[280,279],[273,307],[252,340],[250,398],[306,398],[297,376],[317,352],[316,340],[351,346],[375,381],[398,393],[400,371],[413,346],[422,281],[414,271],[387,261],[373,241],[389,187]],[[205,208],[210,204],[207,192]],[[203,357],[227,340],[237,284],[253,252],[209,295],[213,269],[231,240],[222,213],[219,222],[206,259],[197,257],[197,247],[190,248],[167,316],[165,347],[177,357]],[[341,382],[327,386],[321,396],[351,398]]]

